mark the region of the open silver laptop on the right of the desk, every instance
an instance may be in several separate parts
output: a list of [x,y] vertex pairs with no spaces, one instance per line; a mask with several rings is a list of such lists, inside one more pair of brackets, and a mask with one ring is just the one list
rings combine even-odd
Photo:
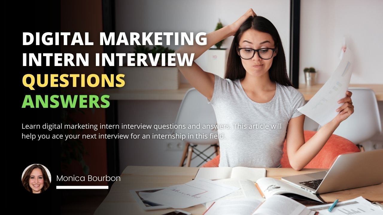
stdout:
[[383,182],[383,149],[339,155],[328,171],[282,177],[313,194],[342,191]]

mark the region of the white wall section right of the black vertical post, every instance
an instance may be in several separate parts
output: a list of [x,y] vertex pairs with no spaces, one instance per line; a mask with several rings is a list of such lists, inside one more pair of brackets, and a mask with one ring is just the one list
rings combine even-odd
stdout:
[[304,67],[318,69],[318,83],[327,81],[345,37],[355,59],[351,83],[383,84],[382,11],[381,0],[302,0],[300,83]]

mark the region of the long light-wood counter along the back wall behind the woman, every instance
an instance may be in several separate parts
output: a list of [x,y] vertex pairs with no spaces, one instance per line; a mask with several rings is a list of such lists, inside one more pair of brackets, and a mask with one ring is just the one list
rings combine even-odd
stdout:
[[[313,98],[323,84],[307,87],[299,85],[299,91],[303,94],[306,101]],[[383,85],[372,84],[352,84],[350,87],[371,88],[378,101],[383,101]],[[105,89],[102,94],[110,95],[111,100],[182,100],[186,91],[191,88],[190,84],[181,84],[178,90],[123,90],[121,88]]]

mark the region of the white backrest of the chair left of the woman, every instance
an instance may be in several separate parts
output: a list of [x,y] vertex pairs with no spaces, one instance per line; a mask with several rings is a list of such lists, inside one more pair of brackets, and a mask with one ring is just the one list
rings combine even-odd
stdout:
[[[210,134],[218,135],[215,129],[203,129],[205,125],[216,125],[217,119],[214,113],[213,106],[208,104],[208,100],[195,88],[190,88],[182,99],[180,108],[178,109],[177,125],[185,125],[186,129],[173,129],[172,134],[185,134],[186,138],[183,141],[195,144],[214,144],[218,142],[218,138],[211,138]],[[188,126],[200,127],[190,128]],[[207,135],[207,138],[201,138],[200,135]],[[193,138],[189,138],[193,136]]]

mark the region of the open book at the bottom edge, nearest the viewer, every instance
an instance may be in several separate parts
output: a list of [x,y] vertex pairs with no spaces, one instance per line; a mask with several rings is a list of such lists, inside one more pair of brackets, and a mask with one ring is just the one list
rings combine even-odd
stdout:
[[203,215],[316,215],[306,206],[282,195],[274,195],[263,203],[254,198],[221,199]]

